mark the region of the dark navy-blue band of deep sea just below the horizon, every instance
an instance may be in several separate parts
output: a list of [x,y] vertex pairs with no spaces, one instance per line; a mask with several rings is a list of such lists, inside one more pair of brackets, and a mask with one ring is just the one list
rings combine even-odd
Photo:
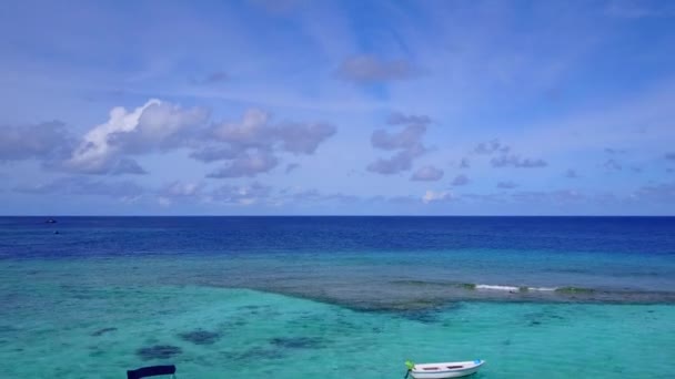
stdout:
[[[0,254],[494,249],[675,255],[675,217],[58,217],[57,224],[46,219],[0,217]],[[60,234],[53,236],[53,231]]]

